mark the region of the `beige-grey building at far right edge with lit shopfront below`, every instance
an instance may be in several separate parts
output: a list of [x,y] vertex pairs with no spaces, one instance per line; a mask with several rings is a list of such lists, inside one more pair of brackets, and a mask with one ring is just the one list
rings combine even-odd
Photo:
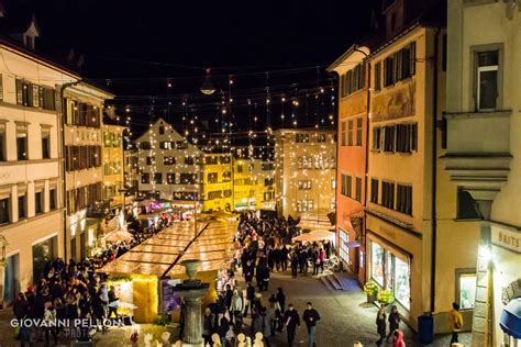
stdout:
[[447,29],[444,169],[480,221],[473,346],[519,346],[500,321],[521,304],[521,4],[450,1]]

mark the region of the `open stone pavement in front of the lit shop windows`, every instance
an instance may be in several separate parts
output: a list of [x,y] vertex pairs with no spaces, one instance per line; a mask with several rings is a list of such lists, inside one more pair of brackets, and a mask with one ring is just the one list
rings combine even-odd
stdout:
[[[240,275],[237,275],[240,276]],[[241,283],[244,289],[244,282]],[[277,287],[282,287],[286,293],[286,303],[293,303],[302,315],[306,303],[311,301],[322,317],[317,327],[317,347],[351,347],[359,340],[364,346],[376,346],[375,318],[377,307],[366,303],[366,295],[355,280],[348,283],[348,290],[330,290],[317,278],[302,276],[292,279],[289,272],[271,273],[269,290],[263,292],[263,300],[267,301]],[[250,320],[245,320],[246,324]],[[417,334],[407,325],[401,324],[407,346],[422,346]],[[462,334],[461,343],[469,344],[470,334]],[[297,331],[298,346],[307,346],[307,329],[302,326]],[[286,332],[275,337],[276,346],[287,346]],[[391,346],[391,344],[384,345]],[[450,346],[450,336],[437,336],[430,346]]]

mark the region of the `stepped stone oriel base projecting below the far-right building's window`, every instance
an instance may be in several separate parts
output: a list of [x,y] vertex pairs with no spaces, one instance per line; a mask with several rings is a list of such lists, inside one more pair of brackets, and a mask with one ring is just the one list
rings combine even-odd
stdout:
[[478,203],[491,203],[508,181],[510,116],[511,111],[445,114],[445,170]]

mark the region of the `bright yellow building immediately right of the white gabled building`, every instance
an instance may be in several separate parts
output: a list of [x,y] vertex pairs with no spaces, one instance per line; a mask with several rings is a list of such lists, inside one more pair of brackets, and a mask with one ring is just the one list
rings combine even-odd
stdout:
[[202,155],[202,211],[232,211],[232,159],[230,154]]

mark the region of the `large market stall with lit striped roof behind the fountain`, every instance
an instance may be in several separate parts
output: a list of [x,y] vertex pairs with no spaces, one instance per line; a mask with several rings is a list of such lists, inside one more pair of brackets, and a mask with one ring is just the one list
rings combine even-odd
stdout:
[[109,273],[109,281],[125,283],[117,291],[132,293],[126,298],[132,298],[128,303],[135,306],[135,322],[154,322],[159,313],[179,309],[173,288],[186,278],[182,260],[201,260],[198,277],[211,284],[206,301],[215,299],[215,278],[232,261],[236,227],[236,222],[224,220],[198,221],[196,225],[193,221],[174,222],[99,271]]

